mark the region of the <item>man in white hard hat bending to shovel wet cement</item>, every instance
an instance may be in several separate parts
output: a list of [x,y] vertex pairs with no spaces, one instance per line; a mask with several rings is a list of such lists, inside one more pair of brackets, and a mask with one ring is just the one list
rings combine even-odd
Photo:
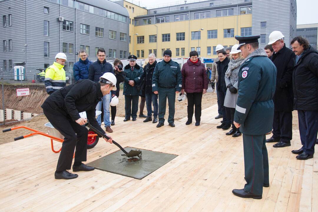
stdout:
[[[66,171],[71,169],[75,147],[73,172],[94,170],[93,167],[82,163],[86,161],[88,130],[81,126],[87,121],[81,118],[79,113],[85,111],[90,124],[105,133],[95,118],[95,108],[104,95],[116,90],[116,81],[115,75],[107,72],[100,77],[99,82],[88,79],[79,80],[59,89],[45,99],[41,107],[46,118],[65,137],[54,174],[55,179],[68,180],[78,177],[77,174]],[[111,136],[108,137],[109,140],[105,138],[104,140],[112,143]]]

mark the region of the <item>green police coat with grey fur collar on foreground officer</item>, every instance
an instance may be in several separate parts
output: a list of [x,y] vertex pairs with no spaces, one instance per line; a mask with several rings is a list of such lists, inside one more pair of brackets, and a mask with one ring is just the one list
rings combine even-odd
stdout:
[[234,121],[247,135],[262,135],[273,126],[277,69],[263,49],[253,51],[240,66]]

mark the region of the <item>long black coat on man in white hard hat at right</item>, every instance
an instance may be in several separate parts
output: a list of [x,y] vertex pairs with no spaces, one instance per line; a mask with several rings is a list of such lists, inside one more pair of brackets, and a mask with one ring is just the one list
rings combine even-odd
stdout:
[[277,68],[276,89],[274,94],[274,111],[293,111],[293,68],[295,53],[286,47],[275,52],[271,57]]

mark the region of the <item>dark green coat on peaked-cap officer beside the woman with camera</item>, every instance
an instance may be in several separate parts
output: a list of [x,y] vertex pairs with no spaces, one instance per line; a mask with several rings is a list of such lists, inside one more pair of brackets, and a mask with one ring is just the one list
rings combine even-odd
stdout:
[[[135,65],[133,72],[131,71],[131,67],[129,64],[125,66],[125,69],[124,69],[125,80],[124,80],[123,95],[138,95],[139,94],[137,90],[137,85],[140,82],[142,73],[143,73],[142,67],[140,67],[137,64]],[[134,86],[129,85],[128,83],[129,80],[134,80],[135,85]]]

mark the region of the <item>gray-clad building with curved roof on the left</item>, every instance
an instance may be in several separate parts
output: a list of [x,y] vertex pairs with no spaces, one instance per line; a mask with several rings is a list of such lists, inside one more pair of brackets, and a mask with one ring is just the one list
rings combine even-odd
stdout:
[[[46,68],[58,52],[67,56],[66,72],[86,49],[95,61],[98,48],[107,60],[128,57],[129,14],[107,0],[3,0],[0,1],[0,70],[12,73],[16,65],[27,75]],[[33,77],[33,75],[32,75]]]

